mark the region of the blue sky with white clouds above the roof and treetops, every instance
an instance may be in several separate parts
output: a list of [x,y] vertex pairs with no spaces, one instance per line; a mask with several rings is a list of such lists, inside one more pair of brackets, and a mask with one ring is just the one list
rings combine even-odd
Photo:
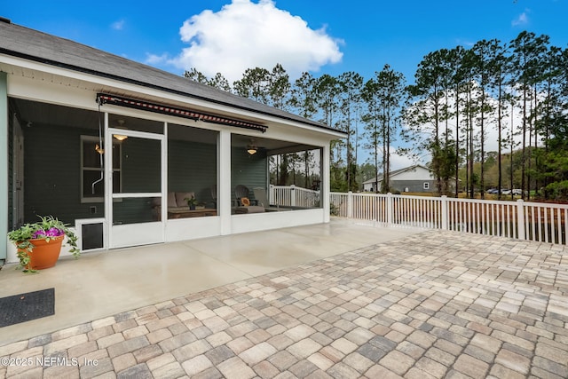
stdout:
[[196,68],[233,83],[280,63],[295,80],[385,64],[412,83],[430,51],[509,43],[527,30],[568,47],[568,0],[20,0],[0,16],[177,75]]

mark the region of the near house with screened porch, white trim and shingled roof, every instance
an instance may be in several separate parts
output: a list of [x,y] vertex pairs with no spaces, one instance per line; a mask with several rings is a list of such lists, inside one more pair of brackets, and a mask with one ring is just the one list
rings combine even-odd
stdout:
[[[329,221],[329,142],[346,135],[325,124],[5,19],[0,99],[0,260],[36,215],[75,226],[83,250]],[[301,152],[318,201],[235,214],[235,186],[268,191],[270,158]]]

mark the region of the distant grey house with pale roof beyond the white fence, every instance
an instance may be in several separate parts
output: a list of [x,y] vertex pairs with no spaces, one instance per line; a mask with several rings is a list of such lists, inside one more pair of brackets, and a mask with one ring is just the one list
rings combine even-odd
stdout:
[[[363,182],[363,191],[375,192],[378,182],[379,192],[383,186],[383,175]],[[400,193],[432,193],[436,192],[436,178],[434,173],[426,166],[414,164],[400,170],[390,171],[390,191]]]

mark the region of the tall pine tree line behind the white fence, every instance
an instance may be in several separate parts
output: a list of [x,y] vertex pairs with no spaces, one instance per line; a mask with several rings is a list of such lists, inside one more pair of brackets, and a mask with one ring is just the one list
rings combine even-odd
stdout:
[[[567,75],[568,50],[527,31],[508,43],[482,40],[432,51],[413,83],[388,64],[367,80],[352,71],[305,72],[291,82],[280,64],[272,71],[248,68],[233,84],[221,73],[185,72],[196,82],[345,131],[347,138],[331,146],[334,191],[359,191],[369,179],[363,171],[383,176],[377,192],[390,191],[396,152],[415,162],[427,157],[439,194],[483,197],[494,186],[501,198],[502,188],[515,187],[523,197],[556,200],[568,199]],[[497,151],[487,150],[492,131]],[[370,158],[359,165],[363,151]]]

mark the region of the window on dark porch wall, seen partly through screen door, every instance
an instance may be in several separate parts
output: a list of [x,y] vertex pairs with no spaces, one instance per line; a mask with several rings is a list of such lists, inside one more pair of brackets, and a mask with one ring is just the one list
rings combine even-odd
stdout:
[[[105,201],[105,181],[100,180],[103,156],[96,150],[98,145],[100,147],[98,137],[81,136],[81,202]],[[118,141],[113,141],[113,165],[114,192],[118,193],[122,185],[121,145]]]

